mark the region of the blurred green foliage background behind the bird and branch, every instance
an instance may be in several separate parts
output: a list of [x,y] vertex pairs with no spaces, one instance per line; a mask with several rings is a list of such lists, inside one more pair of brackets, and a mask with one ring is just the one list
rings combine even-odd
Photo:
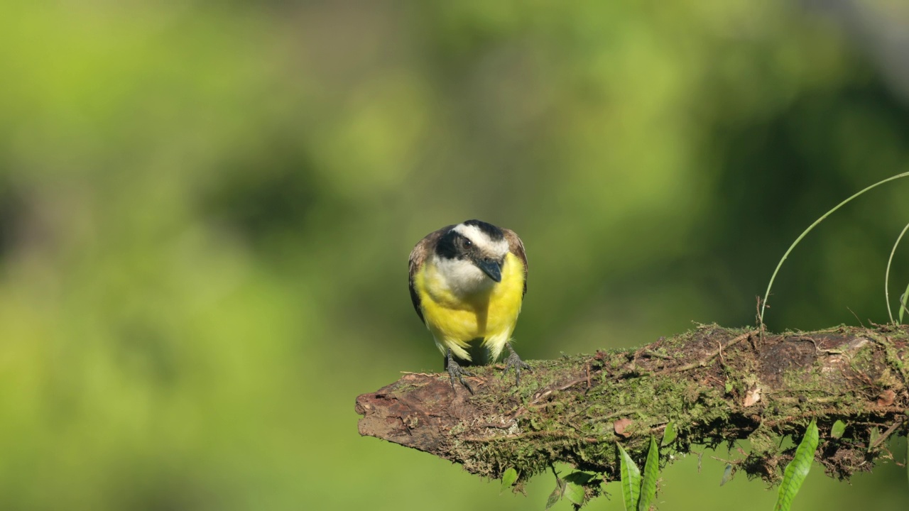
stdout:
[[[357,435],[355,396],[442,368],[411,247],[517,231],[526,359],[754,324],[794,237],[909,169],[907,27],[897,0],[6,0],[0,508],[543,509],[551,476],[500,496]],[[770,328],[884,322],[907,196],[808,236]],[[711,455],[741,456],[670,466],[660,509],[773,506]],[[869,502],[904,509],[904,469],[815,466],[795,504]]]

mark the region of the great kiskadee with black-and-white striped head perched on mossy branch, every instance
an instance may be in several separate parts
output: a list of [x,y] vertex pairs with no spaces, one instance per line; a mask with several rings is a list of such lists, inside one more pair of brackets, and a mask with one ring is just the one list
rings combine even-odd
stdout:
[[464,371],[454,359],[470,361],[474,339],[482,339],[494,361],[507,347],[505,371],[530,369],[511,346],[511,335],[527,292],[527,256],[514,231],[480,220],[447,225],[425,236],[410,253],[410,297],[417,316],[445,356],[452,387],[467,390]]

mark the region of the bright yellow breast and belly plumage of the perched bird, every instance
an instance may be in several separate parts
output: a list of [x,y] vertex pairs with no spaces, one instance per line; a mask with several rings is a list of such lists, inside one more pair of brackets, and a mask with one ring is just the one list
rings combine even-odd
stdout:
[[426,326],[436,343],[452,348],[460,356],[469,341],[483,338],[501,345],[492,346],[497,355],[514,331],[521,312],[524,265],[509,253],[505,255],[501,282],[482,292],[457,296],[446,285],[445,276],[427,261],[416,275],[415,286]]

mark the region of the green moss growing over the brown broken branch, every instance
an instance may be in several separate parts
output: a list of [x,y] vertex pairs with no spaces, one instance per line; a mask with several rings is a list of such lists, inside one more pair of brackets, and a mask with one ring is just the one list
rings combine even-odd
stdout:
[[[703,341],[694,337],[703,336],[711,330],[715,333],[717,329],[716,326],[705,327],[685,336],[664,340],[661,347],[664,352],[675,347],[683,349],[679,339],[687,338],[703,351],[700,347]],[[888,388],[901,385],[898,368],[885,360],[882,348],[868,345],[853,355],[849,360],[850,368],[876,375],[874,385]],[[652,434],[659,435],[661,430],[658,428],[673,420],[677,439],[663,449],[664,460],[668,460],[668,456],[687,454],[691,439],[714,446],[730,440],[727,436],[729,432],[738,431],[747,435],[751,452],[736,462],[737,467],[749,475],[774,482],[779,479],[779,467],[784,466],[786,456],[789,456],[780,451],[781,439],[785,435],[798,435],[804,431],[809,415],[824,416],[831,409],[842,415],[867,414],[870,410],[865,407],[874,403],[867,399],[855,400],[849,395],[832,396],[831,378],[843,375],[821,371],[824,356],[819,355],[812,366],[794,367],[780,375],[776,387],[785,390],[766,388],[760,406],[754,407],[751,418],[744,419],[739,411],[740,404],[736,406],[734,403],[739,403],[740,396],[744,396],[749,389],[766,386],[754,368],[754,360],[747,356],[730,351],[725,355],[722,367],[716,366],[714,361],[704,368],[695,368],[694,371],[702,371],[707,376],[694,378],[679,377],[678,373],[660,370],[641,376],[644,373],[642,368],[648,368],[648,363],[655,364],[655,358],[639,359],[639,365],[635,363],[635,370],[639,373],[629,373],[633,358],[627,352],[606,357],[604,361],[585,356],[564,357],[535,364],[534,378],[528,378],[535,381],[522,382],[516,391],[511,381],[493,383],[508,396],[514,396],[515,410],[521,409],[518,419],[521,432],[499,439],[464,442],[457,447],[457,456],[469,460],[464,466],[472,472],[490,477],[501,476],[506,468],[501,464],[514,466],[521,479],[526,480],[556,462],[566,462],[610,480],[618,470],[614,452],[616,442],[621,443],[635,461],[643,463],[648,438]],[[603,369],[598,377],[592,376],[592,380],[604,383],[583,390],[583,381],[565,386],[571,383],[564,381],[566,374],[576,372],[578,367],[588,366],[592,370]],[[610,368],[614,371],[610,372]],[[494,376],[496,371],[484,371],[483,376]],[[714,380],[724,378],[733,404],[723,386],[697,383],[711,376]],[[551,391],[541,396],[545,389]],[[501,396],[488,399],[477,396],[476,399],[483,406],[494,406],[494,399],[501,399]],[[754,419],[754,415],[761,417]],[[615,421],[622,417],[633,421],[623,431],[628,437],[617,436],[614,431]],[[731,420],[740,424],[729,425]],[[757,420],[756,428],[749,432],[749,428],[754,426],[743,423],[743,420]],[[823,429],[824,421],[819,422]],[[829,421],[830,424],[832,422],[833,419]],[[864,435],[861,441],[866,442],[866,430],[860,433]],[[846,437],[831,448],[853,448],[855,440],[850,435],[855,433],[847,431]],[[845,465],[842,469],[846,472],[853,470]]]

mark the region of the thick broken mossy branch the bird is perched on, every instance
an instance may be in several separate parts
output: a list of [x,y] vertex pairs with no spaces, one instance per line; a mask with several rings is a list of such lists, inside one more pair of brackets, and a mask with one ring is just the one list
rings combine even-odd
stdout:
[[[621,443],[643,463],[651,435],[674,421],[661,460],[692,446],[750,441],[736,470],[778,482],[794,448],[783,436],[820,430],[816,461],[844,478],[870,470],[886,437],[904,435],[909,327],[841,326],[781,335],[699,326],[633,350],[531,362],[521,386],[501,366],[471,370],[476,394],[447,374],[408,374],[356,399],[360,434],[414,447],[474,474],[520,481],[561,462],[619,477]],[[846,423],[842,436],[831,427]],[[593,490],[595,493],[595,490]]]

